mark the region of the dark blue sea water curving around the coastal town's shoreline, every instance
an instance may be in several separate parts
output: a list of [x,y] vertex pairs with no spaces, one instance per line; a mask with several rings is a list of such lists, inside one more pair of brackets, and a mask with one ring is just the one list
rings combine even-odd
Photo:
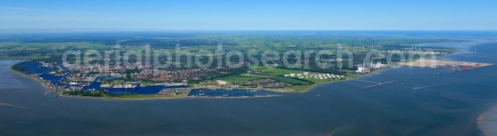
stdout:
[[[488,50],[497,44],[482,45]],[[482,47],[483,48],[483,47]],[[497,63],[495,53],[451,60]],[[104,101],[44,95],[0,61],[0,135],[481,135],[476,119],[497,103],[495,71],[392,68],[307,93],[248,99]],[[4,83],[9,82],[9,83]],[[6,85],[8,84],[8,85]]]

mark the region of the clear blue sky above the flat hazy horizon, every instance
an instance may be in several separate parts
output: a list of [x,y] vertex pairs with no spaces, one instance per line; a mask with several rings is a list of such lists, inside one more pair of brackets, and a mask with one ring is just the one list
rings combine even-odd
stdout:
[[497,30],[497,0],[2,0],[0,29]]

